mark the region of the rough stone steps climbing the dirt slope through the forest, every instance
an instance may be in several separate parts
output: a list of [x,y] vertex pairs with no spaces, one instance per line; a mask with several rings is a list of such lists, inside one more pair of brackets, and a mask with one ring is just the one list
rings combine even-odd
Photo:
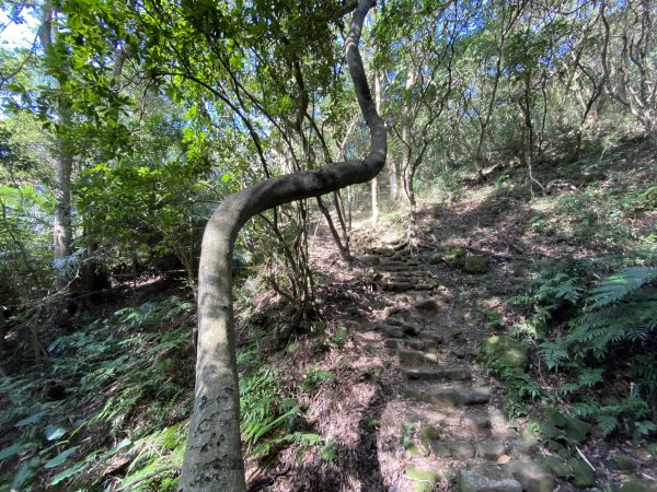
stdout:
[[[370,248],[364,258],[387,307],[374,312],[384,347],[403,376],[407,488],[430,492],[550,492],[556,479],[532,460],[537,446],[508,427],[495,388],[473,371],[476,340],[441,325],[450,311],[437,279],[405,250]],[[397,490],[397,489],[391,489]]]

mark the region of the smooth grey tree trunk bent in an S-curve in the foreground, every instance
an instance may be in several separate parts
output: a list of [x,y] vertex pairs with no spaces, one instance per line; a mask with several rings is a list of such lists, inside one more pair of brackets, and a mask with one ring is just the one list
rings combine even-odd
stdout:
[[373,0],[359,0],[345,49],[371,147],[362,161],[267,179],[228,197],[210,218],[198,276],[198,340],[194,417],[181,476],[184,491],[246,490],[240,440],[240,397],[232,307],[231,260],[235,238],[253,215],[302,198],[366,183],[385,163],[387,136],[367,85],[358,42]]

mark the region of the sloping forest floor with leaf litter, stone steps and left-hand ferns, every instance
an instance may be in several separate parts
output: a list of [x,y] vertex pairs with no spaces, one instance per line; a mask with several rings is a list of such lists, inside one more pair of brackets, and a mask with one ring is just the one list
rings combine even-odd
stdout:
[[[565,175],[539,168],[543,189],[520,173],[425,194],[412,241],[403,210],[390,208],[377,227],[362,216],[351,267],[319,227],[318,317],[283,347],[273,339],[289,309],[261,282],[239,286],[243,417],[257,425],[285,399],[296,409],[285,429],[274,414],[273,437],[247,446],[251,492],[656,490],[654,434],[603,438],[585,424],[581,440],[560,434],[546,446],[537,419],[549,407],[569,415],[568,406],[530,398],[509,420],[507,383],[481,348],[523,321],[527,307],[509,300],[544,270],[622,258],[629,244],[654,251],[657,207],[645,188],[657,183],[657,152],[629,145]],[[5,364],[0,491],[174,490],[193,396],[188,292],[143,278],[77,323],[79,331],[44,330],[42,365]],[[566,379],[535,347],[514,356],[558,394]]]

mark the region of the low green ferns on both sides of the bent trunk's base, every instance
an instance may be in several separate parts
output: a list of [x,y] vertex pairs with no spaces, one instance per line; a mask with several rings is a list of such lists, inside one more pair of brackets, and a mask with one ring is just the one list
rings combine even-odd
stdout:
[[[126,307],[55,339],[45,362],[0,379],[0,491],[173,491],[193,408],[189,302]],[[302,429],[287,379],[252,329],[238,353],[245,457],[335,446]],[[320,377],[321,379],[321,377]]]

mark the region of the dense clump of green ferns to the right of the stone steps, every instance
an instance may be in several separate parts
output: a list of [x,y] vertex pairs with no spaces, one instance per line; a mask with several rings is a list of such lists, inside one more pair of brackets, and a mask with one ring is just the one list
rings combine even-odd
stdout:
[[535,353],[529,373],[487,361],[508,389],[511,417],[530,414],[531,400],[550,401],[603,437],[657,431],[656,279],[648,266],[602,278],[586,268],[553,270],[511,298],[529,309],[511,332]]

